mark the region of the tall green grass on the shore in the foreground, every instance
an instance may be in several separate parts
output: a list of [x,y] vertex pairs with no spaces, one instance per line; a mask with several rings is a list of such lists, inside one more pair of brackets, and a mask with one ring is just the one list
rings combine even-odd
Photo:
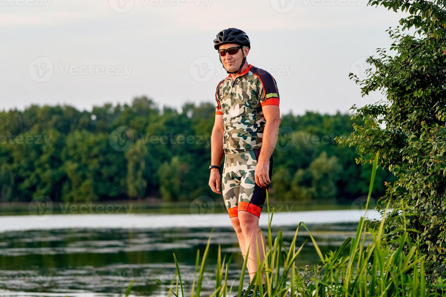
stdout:
[[[375,180],[378,154],[379,152],[376,152],[373,164],[366,212]],[[348,237],[339,248],[335,251],[329,251],[325,255],[322,255],[316,240],[314,240],[304,222],[298,224],[293,240],[290,243],[284,242],[281,231],[273,239],[271,224],[274,210],[271,211],[269,208],[268,193],[266,205],[268,210],[266,247],[259,247],[258,244],[255,247],[257,255],[259,254],[259,248],[263,248],[265,256],[262,261],[257,257],[256,260],[260,269],[256,273],[255,281],[250,285],[250,288],[256,285],[255,289],[258,288],[260,290],[260,296],[285,297],[287,293],[290,293],[293,297],[445,296],[446,286],[444,280],[438,280],[435,284],[426,283],[423,260],[425,256],[421,254],[417,245],[413,244],[407,231],[401,236],[401,244],[398,249],[392,249],[383,242],[383,224],[389,204],[385,208],[379,228],[372,228],[371,224],[364,217],[361,217],[355,237]],[[321,265],[304,269],[295,266],[296,258],[306,243],[305,240],[300,246],[296,246],[300,228],[304,228],[308,232]],[[211,234],[212,232],[213,230]],[[366,240],[371,243],[366,245]],[[175,254],[173,254],[177,272],[175,280],[172,281],[168,288],[169,297],[172,295],[176,297],[205,296],[202,295],[201,291],[203,273],[208,262],[207,256],[210,242],[211,236],[202,255],[200,255],[200,250],[197,251],[194,281],[190,292],[186,294],[178,260]],[[404,253],[403,246],[406,246],[409,252]],[[248,257],[245,257],[237,289],[233,290],[234,283],[231,283],[231,285],[228,283],[231,261],[235,255],[239,254],[241,255],[241,253],[231,254],[228,259],[226,259],[227,255],[225,255],[222,259],[219,245],[216,259],[215,288],[210,295],[206,296],[226,297],[235,294],[241,296],[240,292],[244,284]],[[304,271],[305,269],[307,270],[306,272]],[[312,270],[313,274],[308,276],[308,270]],[[262,290],[260,273],[264,273],[265,292]],[[158,283],[165,286],[160,281]],[[179,291],[181,291],[181,295]]]

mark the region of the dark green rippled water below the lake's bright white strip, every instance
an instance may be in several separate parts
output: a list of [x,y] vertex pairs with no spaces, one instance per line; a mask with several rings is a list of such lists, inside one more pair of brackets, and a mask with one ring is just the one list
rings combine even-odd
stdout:
[[[0,218],[1,220],[1,218]],[[54,226],[55,227],[55,226]],[[322,252],[336,248],[355,235],[356,223],[310,224]],[[296,226],[274,226],[291,241]],[[186,284],[194,278],[197,249],[204,251],[211,227],[194,228],[68,228],[0,233],[0,295],[13,296],[124,296],[134,280],[136,296],[167,296],[152,277],[169,285],[175,277],[175,252]],[[265,231],[264,231],[265,232]],[[297,245],[309,240],[299,232]],[[215,287],[215,260],[222,252],[240,252],[231,227],[215,228],[203,282],[203,296]],[[311,242],[305,244],[298,264],[317,264]],[[229,279],[238,284],[243,258],[235,256]],[[34,292],[34,293],[24,293]],[[92,293],[93,292],[93,293]],[[209,295],[209,294],[208,294]]]

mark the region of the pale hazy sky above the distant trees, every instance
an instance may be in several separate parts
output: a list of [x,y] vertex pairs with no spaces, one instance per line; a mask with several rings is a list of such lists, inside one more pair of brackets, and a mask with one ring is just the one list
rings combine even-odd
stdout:
[[392,43],[403,12],[368,0],[0,0],[1,110],[91,110],[145,95],[160,107],[215,104],[227,76],[213,47],[225,28],[251,40],[248,63],[275,77],[281,114],[349,112],[348,74]]

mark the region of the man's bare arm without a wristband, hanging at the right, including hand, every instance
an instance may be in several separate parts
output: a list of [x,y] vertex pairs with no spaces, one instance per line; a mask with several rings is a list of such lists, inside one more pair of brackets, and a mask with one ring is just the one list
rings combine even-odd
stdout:
[[277,134],[280,126],[280,111],[277,105],[265,105],[262,107],[266,124],[263,130],[262,149],[256,166],[256,183],[266,187],[269,180],[269,158],[273,154],[277,142]]

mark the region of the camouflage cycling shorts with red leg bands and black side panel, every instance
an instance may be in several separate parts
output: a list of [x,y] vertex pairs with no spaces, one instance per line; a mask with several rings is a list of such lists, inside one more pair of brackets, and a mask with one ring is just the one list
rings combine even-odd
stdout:
[[[260,218],[266,199],[268,186],[259,187],[254,173],[260,148],[225,154],[222,193],[229,217],[238,216],[238,212],[247,211]],[[269,159],[269,179],[273,174],[273,156]]]

